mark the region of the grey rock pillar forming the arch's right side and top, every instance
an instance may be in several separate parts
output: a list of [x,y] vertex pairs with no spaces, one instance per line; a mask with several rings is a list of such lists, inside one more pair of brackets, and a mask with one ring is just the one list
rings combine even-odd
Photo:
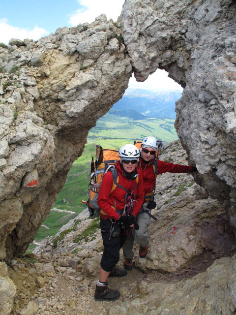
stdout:
[[236,227],[235,9],[232,0],[126,0],[120,23],[136,79],[162,68],[185,88],[177,134],[196,181],[212,198],[231,199]]

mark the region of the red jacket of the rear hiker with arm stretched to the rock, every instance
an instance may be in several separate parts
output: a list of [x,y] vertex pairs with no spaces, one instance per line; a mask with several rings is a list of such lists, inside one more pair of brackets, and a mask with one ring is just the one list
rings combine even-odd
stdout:
[[[155,189],[156,177],[153,172],[152,162],[153,159],[151,159],[150,162],[146,164],[140,158],[137,165],[137,170],[143,175],[145,196]],[[192,170],[192,168],[193,166],[166,163],[158,159],[158,175],[167,172],[188,173]]]

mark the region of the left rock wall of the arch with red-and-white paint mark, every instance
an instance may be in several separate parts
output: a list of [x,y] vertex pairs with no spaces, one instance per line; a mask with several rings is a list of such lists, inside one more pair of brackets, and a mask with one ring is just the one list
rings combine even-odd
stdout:
[[25,252],[89,129],[127,88],[120,32],[101,15],[0,48],[0,259]]

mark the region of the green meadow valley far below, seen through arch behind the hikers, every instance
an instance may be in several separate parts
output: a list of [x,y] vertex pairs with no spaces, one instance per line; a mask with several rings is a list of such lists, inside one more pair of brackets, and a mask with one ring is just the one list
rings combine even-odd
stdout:
[[[103,148],[119,149],[124,144],[134,143],[134,140],[140,140],[150,135],[163,142],[173,141],[177,139],[174,122],[174,119],[168,118],[130,120],[130,118],[118,117],[109,113],[100,118],[97,125],[89,131],[88,143],[85,145],[84,152],[74,161],[53,209],[42,223],[45,226],[39,228],[35,240],[40,241],[46,236],[54,236],[62,225],[87,208],[81,200],[88,200],[90,162],[91,157],[95,159],[97,144]],[[29,250],[32,249],[31,243]]]

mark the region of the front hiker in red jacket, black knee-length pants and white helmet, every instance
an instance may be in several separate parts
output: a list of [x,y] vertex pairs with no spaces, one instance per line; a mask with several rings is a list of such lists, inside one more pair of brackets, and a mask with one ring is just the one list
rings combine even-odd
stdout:
[[107,278],[127,275],[124,269],[120,270],[115,265],[119,260],[119,250],[131,233],[131,228],[134,224],[138,228],[135,217],[144,201],[143,178],[136,169],[139,156],[139,150],[134,145],[122,146],[119,150],[120,161],[116,165],[118,181],[115,189],[113,171],[108,171],[99,190],[97,203],[101,209],[100,227],[104,252],[94,294],[96,301],[118,299],[119,291],[108,288]]

